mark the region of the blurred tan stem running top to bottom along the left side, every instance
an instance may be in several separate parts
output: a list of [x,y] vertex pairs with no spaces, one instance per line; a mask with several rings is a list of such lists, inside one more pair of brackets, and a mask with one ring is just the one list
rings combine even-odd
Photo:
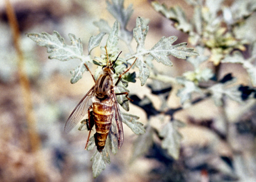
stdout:
[[42,159],[38,156],[40,149],[40,139],[36,131],[36,123],[35,123],[35,115],[33,112],[32,106],[32,98],[31,98],[31,90],[29,79],[24,71],[24,56],[23,52],[20,49],[20,33],[18,28],[18,22],[13,10],[12,5],[9,0],[5,0],[6,3],[6,12],[7,17],[10,23],[12,35],[13,35],[13,43],[15,49],[17,51],[18,56],[18,75],[19,75],[19,83],[22,89],[22,95],[24,99],[24,109],[26,114],[27,126],[28,126],[28,134],[31,144],[31,151],[34,153],[36,162],[35,162],[35,176],[36,181],[46,181],[45,176],[42,172],[42,166],[44,165]]

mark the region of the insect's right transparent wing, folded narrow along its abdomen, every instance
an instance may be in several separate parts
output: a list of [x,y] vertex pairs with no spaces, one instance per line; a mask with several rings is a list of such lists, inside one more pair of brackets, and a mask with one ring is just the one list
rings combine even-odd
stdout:
[[118,106],[118,102],[116,99],[116,94],[113,91],[112,95],[112,100],[114,101],[113,105],[113,121],[111,125],[111,132],[116,136],[117,138],[117,143],[118,143],[118,148],[120,149],[122,144],[123,144],[123,125],[122,125],[122,118],[120,115],[120,110]]

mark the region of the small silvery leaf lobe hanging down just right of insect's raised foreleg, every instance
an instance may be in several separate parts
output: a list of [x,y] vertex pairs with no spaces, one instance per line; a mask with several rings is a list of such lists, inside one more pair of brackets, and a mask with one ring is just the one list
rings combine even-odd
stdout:
[[136,67],[139,68],[139,79],[141,82],[141,86],[146,83],[147,78],[150,76],[150,70],[147,65],[144,63],[143,56],[137,57],[137,61],[135,62]]

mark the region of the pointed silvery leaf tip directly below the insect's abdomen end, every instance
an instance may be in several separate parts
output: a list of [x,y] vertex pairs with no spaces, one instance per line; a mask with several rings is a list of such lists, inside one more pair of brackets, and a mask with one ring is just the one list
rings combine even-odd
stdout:
[[93,177],[97,177],[100,173],[105,169],[106,165],[102,158],[102,154],[96,150],[93,157],[91,158],[93,162],[92,170],[93,170]]

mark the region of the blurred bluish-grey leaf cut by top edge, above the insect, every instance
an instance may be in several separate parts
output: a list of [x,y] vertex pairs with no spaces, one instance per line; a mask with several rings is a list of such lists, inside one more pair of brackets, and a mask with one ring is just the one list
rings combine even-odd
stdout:
[[121,29],[124,29],[133,13],[133,5],[129,5],[125,10],[123,7],[123,0],[112,0],[112,4],[109,1],[106,1],[106,4],[108,11],[118,20]]

